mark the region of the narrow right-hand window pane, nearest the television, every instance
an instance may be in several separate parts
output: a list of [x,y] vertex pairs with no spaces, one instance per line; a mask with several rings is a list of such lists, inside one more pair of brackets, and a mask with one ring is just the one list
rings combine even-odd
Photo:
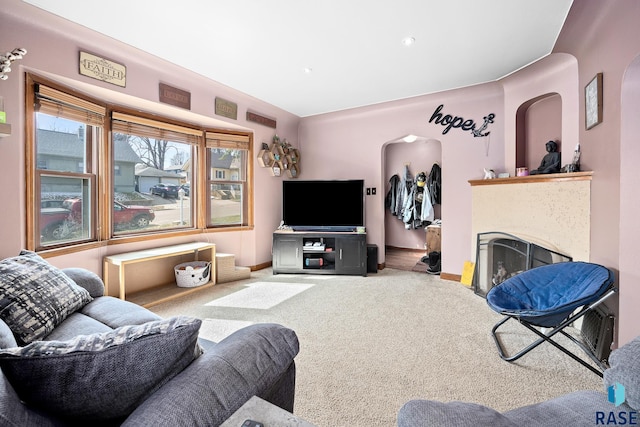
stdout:
[[207,132],[208,226],[246,226],[249,218],[248,161],[250,138]]

